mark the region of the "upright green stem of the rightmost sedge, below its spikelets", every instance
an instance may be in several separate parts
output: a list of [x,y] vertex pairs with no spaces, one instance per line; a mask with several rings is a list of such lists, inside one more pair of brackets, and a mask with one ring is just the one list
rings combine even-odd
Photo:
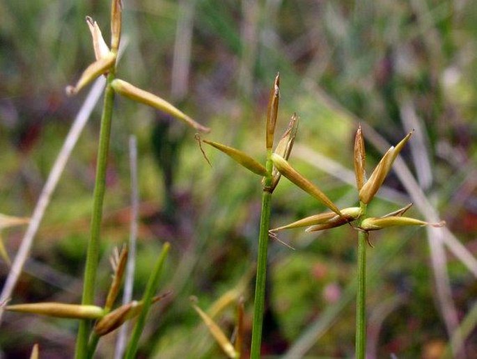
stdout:
[[[366,205],[361,203],[363,216],[366,217]],[[356,295],[356,358],[366,358],[366,246],[368,233],[358,232],[358,287]]]

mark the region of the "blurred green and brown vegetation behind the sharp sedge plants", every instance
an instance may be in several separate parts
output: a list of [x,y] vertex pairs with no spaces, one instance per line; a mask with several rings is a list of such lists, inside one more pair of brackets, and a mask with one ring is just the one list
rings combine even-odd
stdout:
[[[263,160],[267,95],[280,72],[278,128],[284,129],[295,111],[301,121],[290,161],[340,206],[357,202],[350,170],[358,122],[373,127],[389,143],[415,128],[416,136],[403,154],[405,163],[448,230],[476,255],[474,1],[123,3],[127,48],[118,77],[171,100],[210,126],[207,138]],[[0,213],[31,216],[87,94],[68,98],[64,90],[93,61],[84,17],[97,20],[109,38],[109,6],[107,0],[0,0]],[[80,300],[100,107],[68,161],[13,303]],[[257,249],[260,183],[230,159],[205,148],[210,168],[194,131],[117,98],[98,304],[110,280],[107,257],[129,238],[131,134],[139,144],[141,200],[135,298],[141,296],[160,245],[170,241],[173,246],[162,280],[162,288],[172,289],[173,298],[151,314],[141,356],[220,357],[191,309],[189,296],[197,296],[199,305],[208,308],[249,278],[244,298],[247,330],[251,329],[250,272]],[[368,139],[379,138],[377,134],[364,129]],[[370,171],[383,148],[366,145]],[[396,175],[385,184],[370,215],[412,202]],[[324,210],[286,179],[272,206],[274,227]],[[416,209],[412,212],[423,218]],[[438,358],[448,343],[426,233],[420,228],[386,230],[371,237],[375,247],[368,250],[368,346],[374,358],[389,358],[391,353],[399,358]],[[22,234],[22,228],[3,232],[11,257]],[[279,356],[303,344],[309,358],[352,356],[350,283],[356,234],[345,226],[320,235],[291,230],[280,239],[295,250],[276,241],[270,246],[264,351]],[[460,260],[447,254],[444,265],[462,321],[475,305],[477,282]],[[2,282],[8,270],[1,262]],[[234,316],[230,307],[217,317],[228,333]],[[0,330],[3,356],[26,357],[34,342],[40,343],[42,357],[70,356],[76,326],[68,320],[8,314]],[[114,337],[100,342],[102,357],[111,358]],[[476,330],[467,336],[465,353],[477,356]]]

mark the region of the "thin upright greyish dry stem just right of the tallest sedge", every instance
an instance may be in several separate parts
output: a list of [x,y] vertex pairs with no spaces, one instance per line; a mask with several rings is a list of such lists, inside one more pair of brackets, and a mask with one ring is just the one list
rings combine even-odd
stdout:
[[[130,168],[131,168],[131,227],[130,244],[127,255],[126,278],[124,282],[123,304],[132,300],[132,289],[134,284],[134,268],[136,265],[136,239],[139,221],[139,187],[137,170],[137,142],[135,136],[130,136]],[[126,348],[127,330],[129,328],[126,322],[121,326],[118,339],[116,341],[116,352],[114,358],[123,358]]]

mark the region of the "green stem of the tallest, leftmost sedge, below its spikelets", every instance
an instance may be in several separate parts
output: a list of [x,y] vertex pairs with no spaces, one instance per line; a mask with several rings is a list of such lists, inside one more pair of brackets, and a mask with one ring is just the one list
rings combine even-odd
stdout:
[[[114,90],[111,81],[114,73],[111,71],[107,77],[106,89],[104,90],[104,105],[101,116],[100,141],[97,150],[95,190],[93,194],[93,216],[91,218],[91,237],[88,242],[86,253],[86,265],[84,271],[84,287],[82,304],[93,304],[95,296],[95,280],[97,263],[100,257],[100,227],[102,220],[102,206],[104,191],[106,189],[106,169],[109,152],[109,138],[111,135],[111,118],[114,104]],[[75,358],[86,358],[88,351],[88,331],[90,322],[83,320],[79,323]]]

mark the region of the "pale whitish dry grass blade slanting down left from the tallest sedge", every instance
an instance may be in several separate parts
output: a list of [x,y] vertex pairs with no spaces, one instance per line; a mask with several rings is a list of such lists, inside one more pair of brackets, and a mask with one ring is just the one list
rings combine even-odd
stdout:
[[[84,126],[86,125],[86,122],[88,122],[91,112],[93,111],[98,99],[100,99],[105,83],[106,81],[103,77],[100,77],[95,81],[93,88],[91,88],[90,92],[88,93],[83,106],[81,106],[81,109],[75,118],[75,122],[73,122],[73,125],[68,132],[68,136],[66,136],[63,147],[61,147],[61,151],[58,154],[58,157],[56,157],[56,161],[48,175],[47,182],[45,183],[45,186],[43,186],[43,189],[40,193],[40,198],[36,203],[35,209],[33,210],[31,221],[29,222],[28,228],[26,229],[22,239],[22,244],[19,246],[15,260],[13,260],[13,264],[8,273],[5,285],[3,285],[0,301],[5,301],[10,298],[13,289],[15,289],[19,275],[22,273],[26,259],[29,257],[31,246],[33,245],[33,239],[35,238],[38,227],[40,226],[42,218],[45,214],[45,210],[47,209],[52,198],[52,193],[56,189],[56,185],[58,184],[63,170],[65,169],[65,165],[70,158],[71,152],[75,147],[78,138],[81,135]],[[0,323],[2,316],[3,310],[0,309]]]

